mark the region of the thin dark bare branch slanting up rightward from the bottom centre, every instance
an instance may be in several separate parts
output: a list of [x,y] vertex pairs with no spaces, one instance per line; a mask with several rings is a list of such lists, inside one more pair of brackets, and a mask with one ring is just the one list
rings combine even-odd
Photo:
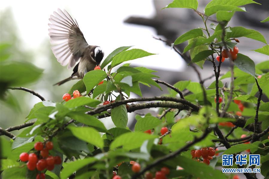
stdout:
[[203,135],[199,138],[194,138],[194,140],[188,144],[186,144],[185,146],[183,146],[181,149],[169,153],[161,158],[156,159],[155,161],[153,161],[151,164],[149,164],[148,166],[146,166],[144,169],[142,169],[139,173],[134,174],[132,176],[132,179],[138,178],[140,175],[143,175],[143,173],[145,173],[147,170],[151,169],[152,167],[159,165],[161,162],[169,160],[171,158],[174,158],[175,156],[177,156],[178,154],[180,154],[183,151],[186,151],[187,149],[189,149],[189,147],[191,147],[192,145],[194,145],[197,142],[200,142],[201,140],[203,140],[204,138],[206,138],[206,136],[211,132],[210,129],[206,129],[206,131],[203,133]]

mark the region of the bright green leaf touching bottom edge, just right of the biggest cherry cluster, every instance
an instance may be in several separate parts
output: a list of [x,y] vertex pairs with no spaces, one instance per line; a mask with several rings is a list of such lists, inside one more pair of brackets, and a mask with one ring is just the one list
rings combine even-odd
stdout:
[[66,164],[61,172],[61,177],[63,179],[68,178],[72,173],[76,172],[78,169],[83,166],[88,165],[89,163],[97,161],[96,158],[84,158],[83,160],[77,160],[75,162],[70,162]]

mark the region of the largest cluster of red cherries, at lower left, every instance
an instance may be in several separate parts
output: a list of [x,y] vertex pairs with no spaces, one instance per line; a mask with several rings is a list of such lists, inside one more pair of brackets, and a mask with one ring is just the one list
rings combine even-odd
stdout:
[[[48,141],[44,144],[42,142],[37,142],[34,144],[34,149],[38,152],[35,153],[26,153],[23,152],[20,154],[20,160],[22,162],[27,162],[27,168],[31,171],[37,169],[42,171],[44,169],[53,170],[54,165],[59,165],[62,163],[62,159],[59,156],[49,155],[49,150],[53,149],[53,143]],[[45,179],[44,173],[37,174],[36,179]]]

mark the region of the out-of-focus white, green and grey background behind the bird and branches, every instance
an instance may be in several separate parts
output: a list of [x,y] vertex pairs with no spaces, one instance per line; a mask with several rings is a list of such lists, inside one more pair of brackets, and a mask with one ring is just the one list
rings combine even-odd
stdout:
[[[256,0],[262,5],[249,4],[248,13],[236,12],[229,22],[230,26],[244,26],[258,30],[269,41],[268,23],[260,23],[268,17],[269,1]],[[209,1],[200,0],[198,10],[203,12]],[[24,87],[30,88],[47,100],[62,101],[62,95],[69,91],[75,81],[62,86],[52,84],[68,77],[72,70],[61,66],[54,57],[48,36],[48,18],[57,8],[66,9],[78,22],[80,30],[88,44],[102,47],[105,57],[121,46],[134,45],[150,53],[156,53],[142,59],[131,61],[131,66],[144,66],[158,71],[161,80],[174,84],[180,80],[197,81],[192,68],[181,59],[174,50],[165,43],[155,40],[153,36],[174,41],[178,36],[192,28],[203,27],[202,20],[193,10],[169,8],[161,10],[171,1],[1,1],[1,44],[10,44],[11,56],[8,60],[28,61],[43,69],[42,77]],[[214,16],[213,16],[214,17]],[[211,22],[208,21],[208,25]],[[248,38],[239,38],[240,53],[248,55],[255,63],[268,60],[267,55],[250,50],[258,49],[264,44]],[[183,49],[186,44],[178,46]],[[228,61],[224,61],[221,72],[229,70]],[[0,69],[1,70],[1,69]],[[205,63],[202,77],[213,74],[211,63]],[[214,81],[206,81],[205,86]],[[162,85],[161,85],[162,86]],[[141,86],[142,94],[147,96],[161,95],[163,92],[156,87]],[[32,94],[20,90],[11,91],[19,106],[10,107],[5,102],[0,104],[0,126],[22,124],[30,109],[40,101]],[[136,97],[132,95],[131,97]],[[19,112],[18,112],[19,111]],[[129,126],[134,116],[129,116]],[[111,120],[103,119],[108,128],[113,127]],[[13,133],[16,135],[16,132]]]

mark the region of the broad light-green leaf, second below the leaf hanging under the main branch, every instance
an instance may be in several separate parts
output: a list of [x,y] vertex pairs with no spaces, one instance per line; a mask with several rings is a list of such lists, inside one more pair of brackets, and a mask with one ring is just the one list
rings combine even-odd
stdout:
[[145,140],[158,138],[157,135],[148,135],[144,132],[127,132],[124,133],[110,144],[110,149],[123,146],[124,150],[132,150],[139,148]]

